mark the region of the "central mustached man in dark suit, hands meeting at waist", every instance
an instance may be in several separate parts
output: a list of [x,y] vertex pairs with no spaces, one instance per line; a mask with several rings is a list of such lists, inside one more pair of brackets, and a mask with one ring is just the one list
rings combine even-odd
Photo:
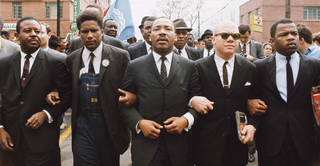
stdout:
[[187,131],[197,121],[188,101],[200,95],[196,63],[173,53],[174,23],[165,17],[151,27],[153,51],[132,60],[122,89],[137,95],[139,104],[119,105],[132,131],[132,166],[187,166]]

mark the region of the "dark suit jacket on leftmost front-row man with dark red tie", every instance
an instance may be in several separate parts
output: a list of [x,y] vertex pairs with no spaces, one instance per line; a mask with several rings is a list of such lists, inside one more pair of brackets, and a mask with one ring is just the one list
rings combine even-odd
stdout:
[[[71,106],[71,79],[66,65],[60,57],[40,48],[26,80],[23,93],[20,92],[20,51],[0,59],[1,94],[4,107],[0,117],[17,151],[22,130],[33,152],[42,153],[59,147],[60,129],[58,117]],[[53,88],[60,93],[60,103],[50,106],[45,98]],[[46,110],[53,118],[52,123],[44,120],[38,129],[26,127],[27,120],[37,112]]]

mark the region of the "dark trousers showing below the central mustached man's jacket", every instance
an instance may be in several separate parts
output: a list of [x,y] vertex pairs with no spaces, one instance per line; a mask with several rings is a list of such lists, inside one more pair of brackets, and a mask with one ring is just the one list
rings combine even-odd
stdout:
[[156,153],[148,166],[172,166],[163,134],[160,138]]

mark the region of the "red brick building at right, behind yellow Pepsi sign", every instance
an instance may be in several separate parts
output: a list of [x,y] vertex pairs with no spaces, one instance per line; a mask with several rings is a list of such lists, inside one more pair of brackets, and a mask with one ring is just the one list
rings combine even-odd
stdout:
[[[320,1],[291,0],[291,17],[295,23],[305,23],[313,33],[320,32]],[[240,6],[239,23],[252,25],[251,14],[262,17],[262,33],[252,32],[252,40],[268,42],[271,25],[285,18],[285,0],[250,0]]]

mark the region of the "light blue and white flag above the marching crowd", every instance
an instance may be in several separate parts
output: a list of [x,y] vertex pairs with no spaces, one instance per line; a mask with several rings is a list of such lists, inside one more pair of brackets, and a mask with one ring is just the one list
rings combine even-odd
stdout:
[[129,0],[115,0],[109,7],[103,22],[110,18],[118,23],[117,39],[123,41],[135,35]]

